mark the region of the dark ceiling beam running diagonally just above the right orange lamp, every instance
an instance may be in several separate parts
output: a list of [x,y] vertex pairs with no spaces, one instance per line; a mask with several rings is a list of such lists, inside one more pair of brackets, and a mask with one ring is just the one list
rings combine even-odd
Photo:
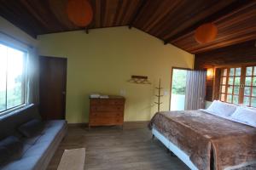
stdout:
[[183,35],[186,35],[192,31],[195,31],[195,29],[202,24],[205,24],[207,22],[213,22],[215,20],[218,20],[219,18],[223,17],[226,14],[230,14],[233,11],[236,11],[236,9],[241,8],[244,5],[247,5],[248,3],[252,3],[252,0],[237,0],[234,3],[231,3],[230,5],[220,9],[218,12],[208,16],[204,20],[200,20],[196,22],[194,25],[189,26],[188,28],[185,28],[183,31],[177,32],[177,34],[173,35],[172,37],[168,37],[166,40],[164,40],[165,45],[167,43],[172,42],[173,40],[176,40],[178,37],[182,37]]

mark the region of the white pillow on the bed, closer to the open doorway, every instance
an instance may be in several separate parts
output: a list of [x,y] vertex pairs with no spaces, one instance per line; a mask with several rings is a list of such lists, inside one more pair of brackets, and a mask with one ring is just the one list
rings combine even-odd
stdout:
[[207,111],[212,111],[213,113],[220,116],[231,116],[236,111],[236,105],[214,100],[208,107]]

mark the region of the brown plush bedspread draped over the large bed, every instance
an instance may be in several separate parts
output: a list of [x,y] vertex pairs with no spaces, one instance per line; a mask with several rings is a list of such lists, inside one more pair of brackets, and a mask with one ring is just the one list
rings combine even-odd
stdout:
[[200,170],[210,169],[211,150],[216,170],[244,167],[256,161],[255,127],[203,111],[159,112],[148,127],[155,127],[176,144]]

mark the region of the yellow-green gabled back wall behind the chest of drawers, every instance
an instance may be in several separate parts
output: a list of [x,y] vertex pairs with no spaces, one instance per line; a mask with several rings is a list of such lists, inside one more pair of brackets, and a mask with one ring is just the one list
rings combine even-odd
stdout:
[[[161,111],[169,109],[172,66],[189,67],[194,56],[135,28],[69,31],[38,37],[39,54],[67,58],[67,121],[88,122],[91,93],[125,91],[125,121],[147,121],[157,110],[155,86],[161,78]],[[152,85],[127,82],[147,76]]]

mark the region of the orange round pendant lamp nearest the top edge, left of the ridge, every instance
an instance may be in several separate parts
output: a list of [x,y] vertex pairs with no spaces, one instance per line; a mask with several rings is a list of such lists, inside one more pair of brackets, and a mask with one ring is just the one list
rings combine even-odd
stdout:
[[76,26],[88,26],[93,17],[93,11],[88,0],[68,0],[67,16]]

